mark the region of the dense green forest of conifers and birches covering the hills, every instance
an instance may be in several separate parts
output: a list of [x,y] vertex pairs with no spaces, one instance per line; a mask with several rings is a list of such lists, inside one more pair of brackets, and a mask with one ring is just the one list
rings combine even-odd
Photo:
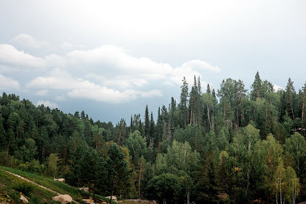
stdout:
[[306,201],[306,82],[274,90],[257,72],[250,89],[231,78],[202,88],[196,76],[180,89],[117,124],[3,93],[0,165],[158,204]]

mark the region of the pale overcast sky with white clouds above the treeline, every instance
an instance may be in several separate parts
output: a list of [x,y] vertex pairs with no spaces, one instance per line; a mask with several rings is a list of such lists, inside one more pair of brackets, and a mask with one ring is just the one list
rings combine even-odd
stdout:
[[129,122],[177,102],[183,76],[219,89],[255,73],[306,81],[306,1],[0,0],[0,93]]

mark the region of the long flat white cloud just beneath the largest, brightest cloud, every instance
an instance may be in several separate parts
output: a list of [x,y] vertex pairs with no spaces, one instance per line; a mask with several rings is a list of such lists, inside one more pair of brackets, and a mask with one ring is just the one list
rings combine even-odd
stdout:
[[[139,97],[150,98],[154,96],[162,96],[161,91],[136,91],[126,89],[119,91],[108,87],[95,84],[83,78],[73,78],[67,71],[62,71],[59,68],[51,71],[49,77],[37,77],[26,84],[27,88],[32,89],[56,89],[65,90],[71,98],[91,98],[100,102],[127,102]],[[58,98],[60,99],[60,98]]]

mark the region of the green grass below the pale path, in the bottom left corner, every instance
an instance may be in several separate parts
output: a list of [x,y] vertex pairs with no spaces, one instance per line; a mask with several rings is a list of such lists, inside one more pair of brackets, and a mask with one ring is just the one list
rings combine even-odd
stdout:
[[56,203],[51,201],[53,192],[45,190],[0,170],[0,202],[21,203],[20,192],[32,203]]

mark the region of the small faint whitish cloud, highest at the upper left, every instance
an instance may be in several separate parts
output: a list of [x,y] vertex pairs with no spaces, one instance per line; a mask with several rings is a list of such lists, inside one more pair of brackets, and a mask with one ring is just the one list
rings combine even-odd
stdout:
[[19,34],[18,36],[15,36],[12,38],[12,42],[34,49],[49,47],[49,43],[47,41],[40,41],[27,34]]

